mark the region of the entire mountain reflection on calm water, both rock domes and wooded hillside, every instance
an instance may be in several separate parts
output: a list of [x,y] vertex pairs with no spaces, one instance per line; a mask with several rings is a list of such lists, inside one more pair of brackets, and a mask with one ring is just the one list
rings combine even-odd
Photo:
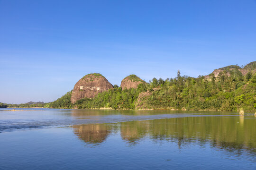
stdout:
[[174,142],[178,147],[187,144],[211,144],[232,152],[256,152],[256,119],[238,117],[186,117],[131,121],[112,124],[73,126],[84,142],[101,143],[110,132],[119,132],[128,143],[141,140]]

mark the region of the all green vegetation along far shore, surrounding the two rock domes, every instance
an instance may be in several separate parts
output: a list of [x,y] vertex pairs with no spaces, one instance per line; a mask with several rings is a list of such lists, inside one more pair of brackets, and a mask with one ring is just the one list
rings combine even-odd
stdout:
[[[253,71],[256,65],[252,62],[245,67]],[[93,99],[84,98],[74,104],[70,102],[72,93],[68,92],[45,107],[256,111],[256,73],[248,72],[243,76],[239,68],[228,66],[217,77],[210,74],[208,79],[181,76],[178,70],[175,78],[153,78],[149,83],[138,85],[137,89],[122,90],[115,85]],[[128,77],[133,81],[141,80],[135,75]]]

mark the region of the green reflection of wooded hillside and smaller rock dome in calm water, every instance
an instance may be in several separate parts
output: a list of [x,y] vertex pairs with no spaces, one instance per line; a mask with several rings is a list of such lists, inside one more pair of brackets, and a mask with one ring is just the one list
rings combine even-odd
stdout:
[[256,149],[256,119],[242,117],[188,117],[120,123],[124,140],[150,136],[178,143],[211,141],[218,146]]

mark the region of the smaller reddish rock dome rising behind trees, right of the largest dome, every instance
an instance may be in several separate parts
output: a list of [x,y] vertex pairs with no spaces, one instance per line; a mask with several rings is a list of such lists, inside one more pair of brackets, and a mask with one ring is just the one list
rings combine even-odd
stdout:
[[145,81],[143,81],[142,79],[140,79],[138,76],[136,75],[130,75],[125,77],[122,82],[120,87],[122,87],[122,89],[124,90],[125,88],[129,89],[129,88],[137,88],[137,86],[141,83],[146,83]]

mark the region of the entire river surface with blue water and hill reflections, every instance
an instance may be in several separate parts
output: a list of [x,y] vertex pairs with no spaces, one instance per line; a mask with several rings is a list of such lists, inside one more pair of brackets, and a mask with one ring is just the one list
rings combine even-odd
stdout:
[[256,170],[256,117],[0,109],[0,170]]

